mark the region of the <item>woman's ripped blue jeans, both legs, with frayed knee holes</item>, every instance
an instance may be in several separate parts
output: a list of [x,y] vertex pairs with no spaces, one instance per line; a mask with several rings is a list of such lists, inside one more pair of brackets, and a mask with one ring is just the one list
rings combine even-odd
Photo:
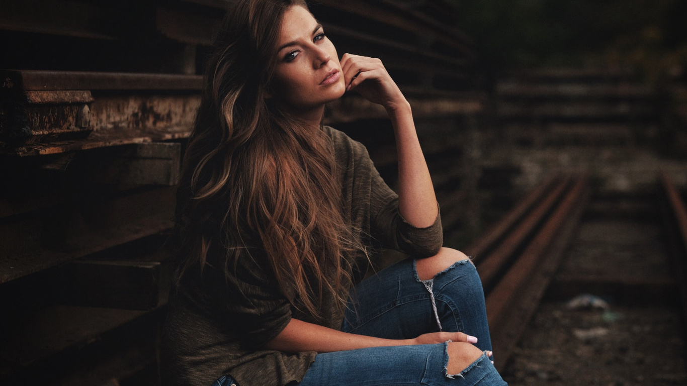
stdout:
[[[482,282],[468,260],[425,282],[404,260],[361,282],[341,330],[387,339],[462,331],[491,350]],[[486,354],[460,374],[447,374],[447,343],[363,348],[317,354],[299,386],[506,385]]]

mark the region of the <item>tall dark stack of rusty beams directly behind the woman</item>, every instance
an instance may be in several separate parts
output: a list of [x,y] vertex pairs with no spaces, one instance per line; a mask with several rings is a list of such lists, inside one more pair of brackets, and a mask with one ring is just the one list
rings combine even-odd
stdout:
[[[228,2],[3,1],[0,384],[157,383],[174,185]],[[339,54],[381,58],[403,88],[456,231],[474,186],[465,139],[484,101],[449,6],[324,0],[312,10]],[[367,144],[394,184],[383,109],[348,95],[326,123]]]

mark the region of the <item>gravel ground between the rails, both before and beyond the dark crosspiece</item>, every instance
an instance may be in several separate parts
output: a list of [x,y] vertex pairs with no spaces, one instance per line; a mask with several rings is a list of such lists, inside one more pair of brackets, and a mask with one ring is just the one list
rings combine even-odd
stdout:
[[[622,209],[637,202],[610,204]],[[587,218],[559,275],[611,282],[671,281],[661,232],[657,216]],[[673,300],[676,296],[662,295]],[[570,308],[569,301],[541,304],[502,372],[510,385],[687,385],[679,302],[631,299],[637,304]]]

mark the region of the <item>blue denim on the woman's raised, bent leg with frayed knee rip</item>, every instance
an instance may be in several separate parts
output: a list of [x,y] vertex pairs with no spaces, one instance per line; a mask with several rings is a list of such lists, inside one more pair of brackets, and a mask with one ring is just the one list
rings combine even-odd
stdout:
[[386,339],[460,331],[477,337],[480,350],[491,350],[482,282],[469,260],[425,282],[415,260],[403,260],[358,284],[351,297],[343,331]]

